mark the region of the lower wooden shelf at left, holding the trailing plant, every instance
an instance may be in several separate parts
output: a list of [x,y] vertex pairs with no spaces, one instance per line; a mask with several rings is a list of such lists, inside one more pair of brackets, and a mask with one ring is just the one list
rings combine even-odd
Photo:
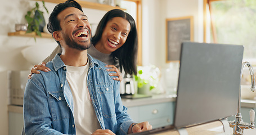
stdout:
[[[16,31],[14,33],[8,33],[8,35],[16,35],[16,36],[21,36],[21,37],[36,37],[36,38],[41,38],[39,35],[35,34],[35,32],[33,33],[26,33],[26,31]],[[48,33],[41,33],[42,38],[52,38],[51,34]]]

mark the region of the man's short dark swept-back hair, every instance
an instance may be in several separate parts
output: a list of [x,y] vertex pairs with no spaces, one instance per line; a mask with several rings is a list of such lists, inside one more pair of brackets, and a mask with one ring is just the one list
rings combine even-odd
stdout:
[[[64,3],[59,3],[57,4],[54,8],[53,11],[49,17],[48,20],[48,24],[47,24],[47,29],[48,31],[52,34],[54,31],[59,31],[61,30],[60,27],[60,20],[57,19],[57,16],[59,15],[59,13],[63,10],[65,10],[68,7],[75,7],[78,8],[78,10],[82,11],[82,7],[79,3],[77,3],[74,0],[68,0],[65,1]],[[52,35],[53,36],[53,35]],[[60,46],[60,42],[56,40],[56,42],[59,44]]]

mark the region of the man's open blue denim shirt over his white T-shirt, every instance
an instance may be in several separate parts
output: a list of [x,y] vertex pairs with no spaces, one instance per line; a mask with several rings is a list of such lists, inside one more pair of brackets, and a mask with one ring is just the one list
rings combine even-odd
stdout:
[[[26,134],[75,134],[73,97],[66,80],[66,66],[60,54],[48,62],[46,73],[33,74],[24,93]],[[113,80],[105,64],[88,55],[87,86],[102,129],[127,134],[134,123],[122,105],[119,81]]]

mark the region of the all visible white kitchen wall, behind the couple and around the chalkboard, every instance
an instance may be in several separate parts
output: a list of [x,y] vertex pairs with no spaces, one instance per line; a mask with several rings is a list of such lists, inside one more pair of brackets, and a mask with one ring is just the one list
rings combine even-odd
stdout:
[[[96,1],[96,0],[90,0]],[[142,47],[143,65],[167,66],[165,63],[165,19],[172,17],[194,16],[194,40],[203,42],[203,0],[142,0]],[[8,0],[0,6],[0,131],[8,134],[8,70],[30,70],[32,64],[24,59],[21,50],[27,46],[40,46],[52,43],[53,39],[9,37],[8,32],[14,32],[15,23],[24,23],[24,15],[34,1]],[[202,5],[200,5],[202,4]],[[55,3],[46,3],[49,12]],[[200,8],[199,8],[200,7]],[[91,24],[96,24],[106,11],[83,9]],[[45,15],[46,21],[49,15]],[[35,50],[40,51],[40,50]],[[21,130],[21,129],[17,129]]]

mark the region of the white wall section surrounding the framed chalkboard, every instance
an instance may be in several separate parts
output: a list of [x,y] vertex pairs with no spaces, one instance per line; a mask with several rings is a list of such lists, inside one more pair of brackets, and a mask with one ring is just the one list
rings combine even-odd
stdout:
[[194,41],[203,42],[203,0],[142,0],[142,65],[165,62],[165,19],[194,17]]

